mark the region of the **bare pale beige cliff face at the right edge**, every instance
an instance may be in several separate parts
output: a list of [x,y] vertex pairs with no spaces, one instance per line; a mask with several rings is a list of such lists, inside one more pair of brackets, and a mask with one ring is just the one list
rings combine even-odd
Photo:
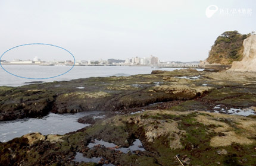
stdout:
[[233,62],[230,71],[256,72],[256,35],[251,35],[243,40],[243,59]]

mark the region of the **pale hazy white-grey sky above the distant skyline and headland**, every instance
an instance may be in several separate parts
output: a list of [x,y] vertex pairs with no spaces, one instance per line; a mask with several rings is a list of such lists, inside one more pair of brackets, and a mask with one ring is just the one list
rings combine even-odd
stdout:
[[[209,5],[218,7],[211,18],[205,15]],[[224,9],[249,9],[252,14],[223,15]],[[255,31],[256,1],[1,0],[0,20],[1,55],[19,44],[49,43],[80,60],[154,55],[188,62],[207,58],[224,31]],[[23,53],[10,52],[2,59],[61,59],[64,53],[37,51],[26,47]]]

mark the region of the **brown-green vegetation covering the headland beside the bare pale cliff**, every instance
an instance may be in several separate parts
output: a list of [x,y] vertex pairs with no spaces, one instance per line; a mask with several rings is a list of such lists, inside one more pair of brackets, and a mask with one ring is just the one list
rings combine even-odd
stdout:
[[243,40],[247,34],[240,34],[238,31],[225,31],[217,37],[211,50],[207,62],[229,65],[233,61],[241,61],[243,53]]

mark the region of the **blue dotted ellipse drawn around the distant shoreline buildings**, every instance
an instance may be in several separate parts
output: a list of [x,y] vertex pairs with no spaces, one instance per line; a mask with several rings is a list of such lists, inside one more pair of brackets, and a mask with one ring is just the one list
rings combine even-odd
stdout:
[[15,47],[13,47],[13,48],[11,48],[11,49],[8,49],[6,52],[4,52],[4,53],[1,55],[1,57],[0,57],[0,66],[1,66],[1,68],[4,69],[4,71],[7,72],[8,74],[11,74],[11,75],[14,75],[14,76],[17,76],[17,77],[20,77],[20,78],[25,78],[25,79],[49,79],[49,78],[55,78],[55,77],[57,77],[57,76],[61,76],[61,75],[67,74],[67,72],[71,71],[71,69],[74,68],[74,65],[73,65],[68,71],[64,72],[63,74],[60,74],[60,75],[57,75],[57,76],[46,77],[46,78],[29,78],[29,77],[19,76],[19,75],[12,74],[11,72],[8,72],[8,71],[2,66],[2,64],[1,64],[2,56],[5,55],[5,53],[7,53],[8,51],[10,51],[10,50],[12,50],[12,49],[15,49],[15,48],[21,47],[21,46],[28,46],[28,45],[47,45],[47,46],[58,47],[58,48],[60,48],[60,49],[65,50],[66,52],[70,53],[70,55],[71,55],[71,56],[73,57],[73,59],[74,59],[74,63],[76,63],[76,59],[74,58],[74,55],[73,55],[71,52],[69,52],[68,50],[64,49],[63,47],[55,46],[55,45],[53,45],[53,44],[45,44],[45,43],[30,43],[30,44],[21,44],[21,45],[19,45],[19,46],[15,46]]

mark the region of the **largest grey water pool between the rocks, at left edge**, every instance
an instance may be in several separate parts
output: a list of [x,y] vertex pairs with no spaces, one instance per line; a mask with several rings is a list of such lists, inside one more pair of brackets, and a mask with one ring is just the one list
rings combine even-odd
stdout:
[[73,132],[89,124],[81,124],[77,122],[79,117],[88,116],[90,114],[99,114],[101,111],[89,111],[76,114],[54,114],[49,113],[42,119],[27,118],[21,120],[13,120],[0,122],[0,141],[7,142],[15,137],[23,136],[27,133],[40,132],[42,135],[60,134]]

